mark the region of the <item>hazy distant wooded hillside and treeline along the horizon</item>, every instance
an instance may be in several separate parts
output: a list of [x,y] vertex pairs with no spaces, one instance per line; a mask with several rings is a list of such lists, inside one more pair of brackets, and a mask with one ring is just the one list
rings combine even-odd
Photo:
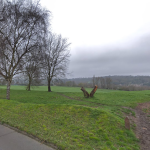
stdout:
[[101,89],[149,90],[150,76],[93,76],[92,78],[63,79],[54,82],[54,85],[70,87],[94,87],[95,84]]

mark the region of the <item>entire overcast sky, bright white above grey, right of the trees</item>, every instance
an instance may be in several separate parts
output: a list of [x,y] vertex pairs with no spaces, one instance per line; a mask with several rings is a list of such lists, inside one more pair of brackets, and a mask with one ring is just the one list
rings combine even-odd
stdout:
[[41,0],[71,44],[69,78],[150,75],[150,0]]

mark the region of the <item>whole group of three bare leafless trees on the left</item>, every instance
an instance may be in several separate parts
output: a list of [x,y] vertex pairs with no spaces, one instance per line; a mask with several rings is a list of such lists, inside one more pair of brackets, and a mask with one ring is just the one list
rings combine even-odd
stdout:
[[52,78],[64,76],[70,57],[70,43],[50,32],[51,13],[39,2],[3,1],[0,7],[0,77],[7,81],[7,95],[14,76],[46,78],[51,91]]

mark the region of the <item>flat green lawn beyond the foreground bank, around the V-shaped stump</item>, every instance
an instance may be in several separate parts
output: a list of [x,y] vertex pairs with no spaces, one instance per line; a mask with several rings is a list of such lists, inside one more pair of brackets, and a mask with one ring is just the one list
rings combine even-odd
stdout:
[[[18,90],[20,88],[20,90]],[[6,97],[6,86],[0,86],[0,99]],[[90,92],[92,89],[87,88]],[[109,106],[135,107],[138,103],[150,101],[150,91],[119,91],[98,89],[93,98],[84,98],[80,87],[60,87],[52,86],[53,92],[47,92],[47,86],[34,87],[31,91],[26,91],[25,86],[11,86],[10,98],[23,103],[36,104],[88,104],[98,106],[98,103]],[[82,101],[73,101],[67,97]],[[85,101],[85,102],[84,102]],[[87,103],[88,101],[88,103]],[[92,103],[90,103],[92,102]]]

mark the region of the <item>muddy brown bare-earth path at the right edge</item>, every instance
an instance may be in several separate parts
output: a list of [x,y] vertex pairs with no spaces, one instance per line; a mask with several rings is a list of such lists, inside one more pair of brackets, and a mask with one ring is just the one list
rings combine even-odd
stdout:
[[139,104],[136,113],[136,136],[140,140],[141,150],[150,150],[150,117],[143,109],[150,108],[150,102]]

